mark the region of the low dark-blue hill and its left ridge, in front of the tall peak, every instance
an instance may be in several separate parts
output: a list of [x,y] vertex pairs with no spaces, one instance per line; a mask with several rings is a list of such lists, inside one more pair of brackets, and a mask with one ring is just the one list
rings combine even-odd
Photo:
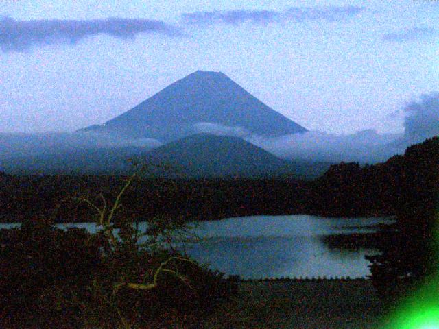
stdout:
[[316,178],[326,163],[289,162],[241,138],[196,134],[155,149],[119,147],[73,149],[3,160],[1,170],[16,175],[88,174],[128,175],[130,160],[149,164],[155,177]]

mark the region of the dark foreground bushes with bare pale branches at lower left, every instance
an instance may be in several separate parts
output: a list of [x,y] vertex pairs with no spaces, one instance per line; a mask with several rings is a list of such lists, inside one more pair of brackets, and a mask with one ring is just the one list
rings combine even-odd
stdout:
[[169,242],[178,242],[171,234],[184,223],[156,217],[140,232],[123,217],[130,182],[112,203],[72,198],[95,210],[95,234],[38,216],[0,230],[1,328],[199,328],[200,317],[233,294],[222,273]]

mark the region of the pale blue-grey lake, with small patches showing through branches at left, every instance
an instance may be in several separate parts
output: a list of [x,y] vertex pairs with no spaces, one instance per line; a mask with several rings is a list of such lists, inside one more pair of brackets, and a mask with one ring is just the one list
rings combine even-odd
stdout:
[[[193,232],[202,237],[184,248],[200,263],[209,263],[227,275],[242,278],[290,277],[327,278],[370,274],[366,254],[370,248],[331,248],[322,236],[375,232],[390,217],[327,218],[311,215],[252,216],[193,223]],[[10,228],[14,224],[0,224]],[[95,231],[93,223],[59,224]],[[141,227],[145,223],[141,223]]]

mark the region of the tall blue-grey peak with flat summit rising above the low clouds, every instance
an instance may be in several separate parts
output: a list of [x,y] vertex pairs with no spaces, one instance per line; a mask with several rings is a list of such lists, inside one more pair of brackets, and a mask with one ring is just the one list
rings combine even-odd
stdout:
[[85,130],[174,141],[194,134],[193,125],[215,123],[248,132],[279,136],[306,132],[272,110],[223,73],[196,71],[174,82],[138,106]]

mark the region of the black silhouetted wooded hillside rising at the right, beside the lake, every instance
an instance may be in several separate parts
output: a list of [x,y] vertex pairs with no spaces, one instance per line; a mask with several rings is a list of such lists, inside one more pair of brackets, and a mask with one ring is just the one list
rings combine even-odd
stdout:
[[381,164],[331,166],[311,184],[311,212],[396,217],[394,224],[381,225],[371,236],[381,254],[368,256],[375,287],[390,304],[439,273],[439,137]]

